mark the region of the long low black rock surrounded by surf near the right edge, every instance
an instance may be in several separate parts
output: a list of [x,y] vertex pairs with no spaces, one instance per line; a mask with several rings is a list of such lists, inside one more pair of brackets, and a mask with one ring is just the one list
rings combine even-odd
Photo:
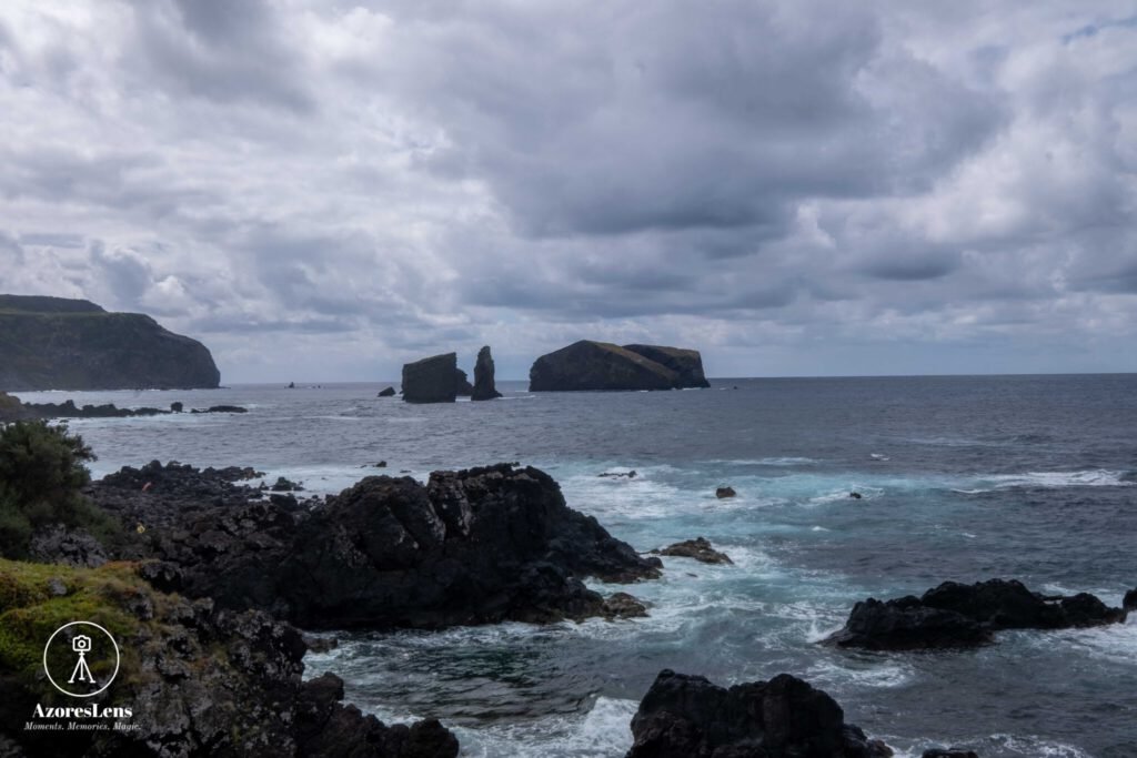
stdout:
[[922,597],[856,603],[845,627],[827,640],[841,648],[923,650],[989,643],[1001,630],[1101,626],[1126,619],[1096,597],[1043,595],[1014,580],[945,582]]

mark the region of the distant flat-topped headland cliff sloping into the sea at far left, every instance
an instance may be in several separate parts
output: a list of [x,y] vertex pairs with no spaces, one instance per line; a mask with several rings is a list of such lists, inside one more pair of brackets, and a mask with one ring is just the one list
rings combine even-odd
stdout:
[[0,294],[0,390],[216,388],[197,340],[86,300]]

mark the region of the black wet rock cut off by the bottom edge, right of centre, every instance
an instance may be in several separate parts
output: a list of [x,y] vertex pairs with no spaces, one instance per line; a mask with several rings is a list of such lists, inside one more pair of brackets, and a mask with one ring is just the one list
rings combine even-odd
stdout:
[[626,758],[887,758],[841,707],[789,674],[716,686],[663,670],[632,718]]

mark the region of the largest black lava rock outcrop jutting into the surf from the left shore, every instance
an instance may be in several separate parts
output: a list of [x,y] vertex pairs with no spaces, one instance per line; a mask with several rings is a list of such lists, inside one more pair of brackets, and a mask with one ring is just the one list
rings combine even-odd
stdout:
[[127,524],[158,525],[136,549],[168,567],[164,581],[307,628],[603,616],[604,598],[582,577],[658,576],[658,559],[568,508],[556,482],[531,467],[435,472],[425,486],[370,476],[319,507],[242,499],[216,474],[193,483],[175,466],[172,481],[206,499],[190,507],[167,472],[148,469],[123,469],[91,493]]

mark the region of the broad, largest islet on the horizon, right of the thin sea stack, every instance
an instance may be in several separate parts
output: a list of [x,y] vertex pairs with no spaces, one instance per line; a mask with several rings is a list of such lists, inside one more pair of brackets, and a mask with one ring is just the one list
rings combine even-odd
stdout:
[[696,350],[654,345],[622,348],[591,340],[543,355],[529,370],[532,392],[674,390],[706,385],[703,359]]

